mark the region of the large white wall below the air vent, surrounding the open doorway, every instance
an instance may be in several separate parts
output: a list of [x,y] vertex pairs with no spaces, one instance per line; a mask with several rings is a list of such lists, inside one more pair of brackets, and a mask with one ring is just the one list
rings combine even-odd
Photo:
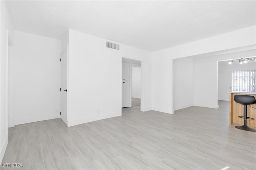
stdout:
[[[121,115],[122,57],[130,56],[151,69],[149,52],[122,44],[120,50],[106,48],[105,39],[69,30],[68,126]],[[150,73],[144,81],[151,81]],[[150,100],[145,97],[146,106]]]

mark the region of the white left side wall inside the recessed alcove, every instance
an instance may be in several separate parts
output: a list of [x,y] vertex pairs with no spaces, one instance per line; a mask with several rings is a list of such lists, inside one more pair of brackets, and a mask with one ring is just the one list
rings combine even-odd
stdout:
[[193,59],[183,57],[173,60],[174,111],[193,106]]

